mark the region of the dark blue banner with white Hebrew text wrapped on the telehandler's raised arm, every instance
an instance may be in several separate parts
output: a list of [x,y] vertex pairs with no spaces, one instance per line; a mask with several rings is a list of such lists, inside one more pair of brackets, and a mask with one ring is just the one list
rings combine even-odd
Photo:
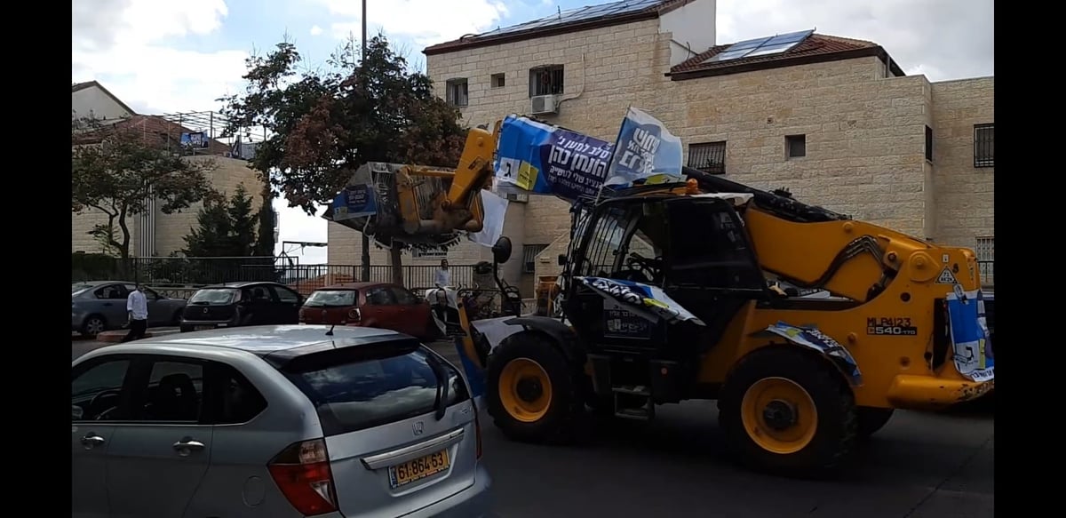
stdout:
[[500,126],[496,179],[536,194],[595,197],[611,162],[609,142],[508,115]]

